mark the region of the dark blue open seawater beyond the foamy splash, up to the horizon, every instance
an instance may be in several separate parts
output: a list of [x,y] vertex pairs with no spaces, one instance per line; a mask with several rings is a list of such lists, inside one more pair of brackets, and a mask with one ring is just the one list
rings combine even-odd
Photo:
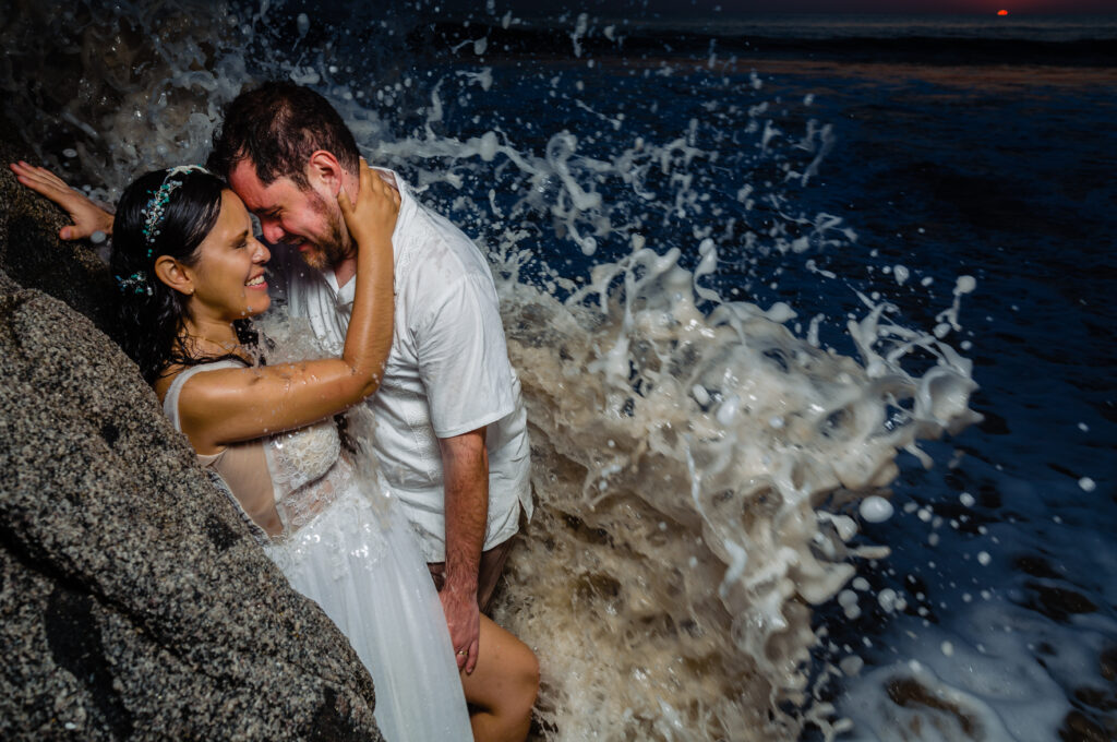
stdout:
[[[872,589],[918,598],[909,602],[906,619],[895,622],[879,610],[849,621],[837,608],[825,622],[838,646],[856,647],[871,637],[873,647],[863,653],[866,673],[905,651],[937,665],[941,678],[962,687],[966,684],[957,678],[966,674],[982,678],[974,686],[1011,687],[1021,667],[1044,667],[1051,685],[1020,682],[1018,691],[1025,689],[1005,694],[1011,703],[996,693],[985,696],[1004,724],[986,723],[987,739],[999,733],[1050,739],[1052,722],[1069,735],[1065,739],[1117,733],[1111,670],[1109,679],[1102,676],[1108,667],[1102,658],[1111,664],[1117,641],[1117,352],[1111,342],[1117,67],[1111,42],[1094,40],[1111,36],[1115,26],[1111,18],[1073,20],[1034,20],[1019,34],[997,29],[986,35],[960,19],[939,25],[920,18],[907,29],[892,19],[868,44],[866,36],[880,30],[872,23],[847,21],[833,34],[825,22],[812,23],[810,34],[796,37],[784,26],[766,29],[756,21],[762,37],[770,31],[755,41],[758,50],[738,48],[733,55],[724,39],[720,46],[708,38],[705,46],[690,44],[703,53],[715,49],[713,61],[707,54],[649,51],[671,42],[660,31],[638,47],[638,55],[594,57],[592,69],[572,72],[569,61],[543,65],[515,57],[494,67],[495,75],[506,76],[494,87],[509,91],[528,110],[550,107],[555,88],[543,80],[558,75],[585,83],[562,96],[576,96],[607,116],[623,111],[626,130],[681,130],[684,122],[698,120],[695,141],[709,146],[718,140],[715,146],[726,158],[706,171],[715,203],[735,190],[735,169],[748,163],[755,178],[765,167],[755,167],[747,152],[754,142],[735,139],[747,121],[733,110],[735,103],[772,102],[772,116],[787,132],[801,132],[808,118],[832,126],[834,143],[818,175],[781,198],[801,215],[839,216],[857,239],[821,248],[815,241],[806,254],[837,280],[804,270],[802,256],[774,251],[757,266],[754,253],[734,255],[733,238],[719,240],[725,251],[717,285],[739,287],[762,305],[783,299],[803,314],[832,316],[856,286],[876,288],[906,317],[933,324],[942,308],[935,297],[947,293],[958,275],[977,279],[962,316],[981,386],[973,408],[985,420],[932,447],[939,459],[934,470],[909,462],[894,488],[898,505],[917,510],[869,525],[863,534],[894,548],[888,565],[867,570]],[[700,35],[694,27],[687,30]],[[522,75],[541,65],[543,72]],[[649,78],[643,74],[649,68],[675,72]],[[758,91],[753,70],[763,83]],[[651,107],[633,106],[642,96]],[[810,106],[803,104],[806,96]],[[493,96],[484,101],[493,103]],[[558,126],[601,131],[593,116],[571,116],[569,108],[553,123],[546,114],[542,122],[533,118],[532,131],[517,131],[507,118],[503,123],[512,139],[525,143],[532,131]],[[608,133],[603,140],[599,146],[607,151],[615,146]],[[746,152],[735,151],[738,143]],[[726,212],[734,213],[732,207]],[[669,232],[681,225],[665,218],[663,227]],[[881,272],[895,265],[911,272],[904,286]],[[781,275],[773,288],[765,279],[774,273]],[[934,279],[935,288],[925,289],[924,278]],[[838,339],[834,343],[841,348]],[[971,494],[976,506],[960,504],[962,493]],[[928,520],[920,519],[923,513]],[[956,525],[929,544],[935,519]],[[990,555],[987,565],[978,562],[982,552]],[[975,610],[974,600],[995,607]],[[905,643],[906,649],[887,646],[906,625],[924,639]],[[1002,647],[996,662],[983,664],[976,649],[977,662],[962,660],[956,646],[949,657],[941,653],[942,637],[980,647],[1004,627],[1029,638]],[[1066,694],[1069,721],[1060,717],[1066,710],[1028,708],[1024,702],[1033,693],[1044,702]],[[1008,711],[1013,707],[1015,719]],[[869,724],[871,732],[862,723],[855,736],[890,739],[904,716]],[[948,739],[958,733],[949,724],[946,729]],[[964,730],[961,735],[967,736]]]

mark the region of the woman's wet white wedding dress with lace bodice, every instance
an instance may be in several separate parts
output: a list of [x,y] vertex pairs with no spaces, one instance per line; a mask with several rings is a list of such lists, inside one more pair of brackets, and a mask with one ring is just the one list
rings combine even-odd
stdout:
[[[175,428],[181,430],[182,386],[195,373],[223,368],[244,367],[218,361],[174,379],[163,410]],[[269,538],[258,526],[254,532],[292,587],[322,606],[369,668],[384,739],[471,740],[441,602],[419,546],[382,484],[357,475],[335,422],[198,459],[221,474],[235,496],[238,482],[270,479],[283,533]],[[267,479],[254,486],[260,483]]]

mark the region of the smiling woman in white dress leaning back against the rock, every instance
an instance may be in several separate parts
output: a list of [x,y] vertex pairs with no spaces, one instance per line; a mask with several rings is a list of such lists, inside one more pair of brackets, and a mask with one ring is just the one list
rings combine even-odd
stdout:
[[375,392],[388,359],[399,193],[362,160],[356,203],[338,194],[360,246],[342,356],[267,365],[248,318],[270,304],[269,253],[223,181],[198,167],[147,173],[124,191],[114,221],[49,171],[12,170],[70,212],[64,239],[90,225],[113,232],[124,350],[292,586],[349,637],[375,683],[384,736],[523,740],[534,655],[483,616],[477,667],[458,674],[418,544],[390,493],[359,475],[332,417]]

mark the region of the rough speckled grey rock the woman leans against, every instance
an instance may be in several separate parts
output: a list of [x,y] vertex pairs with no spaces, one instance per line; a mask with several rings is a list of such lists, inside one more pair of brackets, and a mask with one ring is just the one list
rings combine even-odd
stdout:
[[380,740],[349,643],[95,326],[107,274],[18,154],[0,142],[0,739]]

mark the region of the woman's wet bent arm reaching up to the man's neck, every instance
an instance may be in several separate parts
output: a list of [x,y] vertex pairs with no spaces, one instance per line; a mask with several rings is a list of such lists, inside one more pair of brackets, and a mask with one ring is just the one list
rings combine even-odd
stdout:
[[356,291],[340,359],[199,373],[179,399],[183,432],[202,454],[321,420],[376,391],[392,346],[392,230],[400,194],[361,161],[356,206],[337,194],[357,245]]

